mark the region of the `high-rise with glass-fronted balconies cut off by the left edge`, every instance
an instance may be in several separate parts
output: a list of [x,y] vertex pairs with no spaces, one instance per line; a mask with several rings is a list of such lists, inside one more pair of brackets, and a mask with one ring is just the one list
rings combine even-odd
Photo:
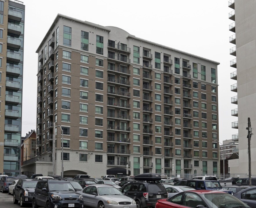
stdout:
[[20,173],[25,5],[0,0],[0,173]]

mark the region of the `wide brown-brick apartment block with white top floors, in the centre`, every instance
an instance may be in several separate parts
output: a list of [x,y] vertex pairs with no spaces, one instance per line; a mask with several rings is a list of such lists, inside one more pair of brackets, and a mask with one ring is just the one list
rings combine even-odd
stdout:
[[[60,174],[63,136],[64,176],[218,173],[218,62],[61,14],[36,52],[37,160],[23,171]],[[33,166],[52,155],[55,170]]]

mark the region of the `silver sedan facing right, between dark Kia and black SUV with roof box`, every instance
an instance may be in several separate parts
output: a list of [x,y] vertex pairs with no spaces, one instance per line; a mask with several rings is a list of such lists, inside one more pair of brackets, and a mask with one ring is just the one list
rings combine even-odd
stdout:
[[92,208],[136,208],[136,202],[111,185],[93,184],[81,192],[84,207]]

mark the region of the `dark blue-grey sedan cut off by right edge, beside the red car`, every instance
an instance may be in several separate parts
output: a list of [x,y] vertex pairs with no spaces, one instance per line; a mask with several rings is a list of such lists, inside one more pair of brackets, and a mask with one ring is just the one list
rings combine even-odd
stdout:
[[256,186],[252,186],[237,192],[234,195],[250,207],[256,207]]

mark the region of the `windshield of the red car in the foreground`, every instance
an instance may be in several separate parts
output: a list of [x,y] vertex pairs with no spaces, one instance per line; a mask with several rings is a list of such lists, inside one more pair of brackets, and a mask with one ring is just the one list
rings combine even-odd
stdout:
[[213,208],[218,207],[228,207],[228,208],[235,208],[235,207],[249,207],[241,200],[232,196],[228,193],[207,193],[207,194],[200,194]]

